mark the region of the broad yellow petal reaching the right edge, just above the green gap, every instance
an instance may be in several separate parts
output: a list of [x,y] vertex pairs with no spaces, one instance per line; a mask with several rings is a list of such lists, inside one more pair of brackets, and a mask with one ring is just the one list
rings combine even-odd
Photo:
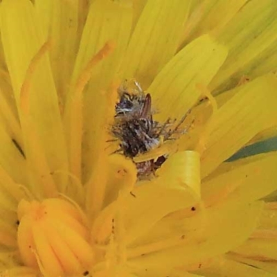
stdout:
[[238,93],[215,112],[203,138],[202,177],[262,129],[276,124],[276,88],[276,77],[265,75],[239,87]]

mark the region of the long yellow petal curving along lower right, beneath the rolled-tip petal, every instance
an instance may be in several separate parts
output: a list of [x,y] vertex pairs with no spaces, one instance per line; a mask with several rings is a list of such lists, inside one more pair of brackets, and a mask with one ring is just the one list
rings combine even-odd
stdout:
[[225,253],[249,237],[256,227],[261,208],[262,203],[259,202],[247,206],[220,205],[217,208],[209,208],[203,238],[172,249],[141,255],[129,260],[129,265],[139,274],[147,268],[156,274],[169,275],[172,267],[186,268],[201,260]]

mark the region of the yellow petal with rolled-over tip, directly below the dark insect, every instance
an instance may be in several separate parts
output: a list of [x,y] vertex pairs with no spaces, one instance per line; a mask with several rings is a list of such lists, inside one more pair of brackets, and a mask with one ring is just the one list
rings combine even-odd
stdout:
[[[188,166],[188,161],[193,161]],[[199,160],[198,160],[199,161]],[[126,241],[132,242],[146,233],[168,213],[199,202],[199,163],[197,153],[180,152],[172,155],[153,181],[142,181],[125,199],[123,218],[127,223]],[[151,200],[155,197],[154,202]]]

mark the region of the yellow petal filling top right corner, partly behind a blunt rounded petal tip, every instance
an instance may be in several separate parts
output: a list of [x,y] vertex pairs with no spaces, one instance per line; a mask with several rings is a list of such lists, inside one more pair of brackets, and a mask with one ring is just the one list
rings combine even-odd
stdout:
[[[247,71],[247,64],[276,41],[277,2],[253,0],[247,3],[222,30],[219,41],[226,44],[229,56],[214,78],[211,89],[215,93],[238,83]],[[249,69],[251,71],[251,69]]]

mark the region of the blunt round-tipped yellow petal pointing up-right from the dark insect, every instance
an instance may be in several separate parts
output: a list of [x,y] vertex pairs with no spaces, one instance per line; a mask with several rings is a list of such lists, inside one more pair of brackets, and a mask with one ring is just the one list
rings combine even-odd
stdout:
[[182,49],[163,67],[148,91],[158,111],[155,118],[181,119],[202,95],[197,84],[207,86],[224,62],[226,48],[204,35]]

